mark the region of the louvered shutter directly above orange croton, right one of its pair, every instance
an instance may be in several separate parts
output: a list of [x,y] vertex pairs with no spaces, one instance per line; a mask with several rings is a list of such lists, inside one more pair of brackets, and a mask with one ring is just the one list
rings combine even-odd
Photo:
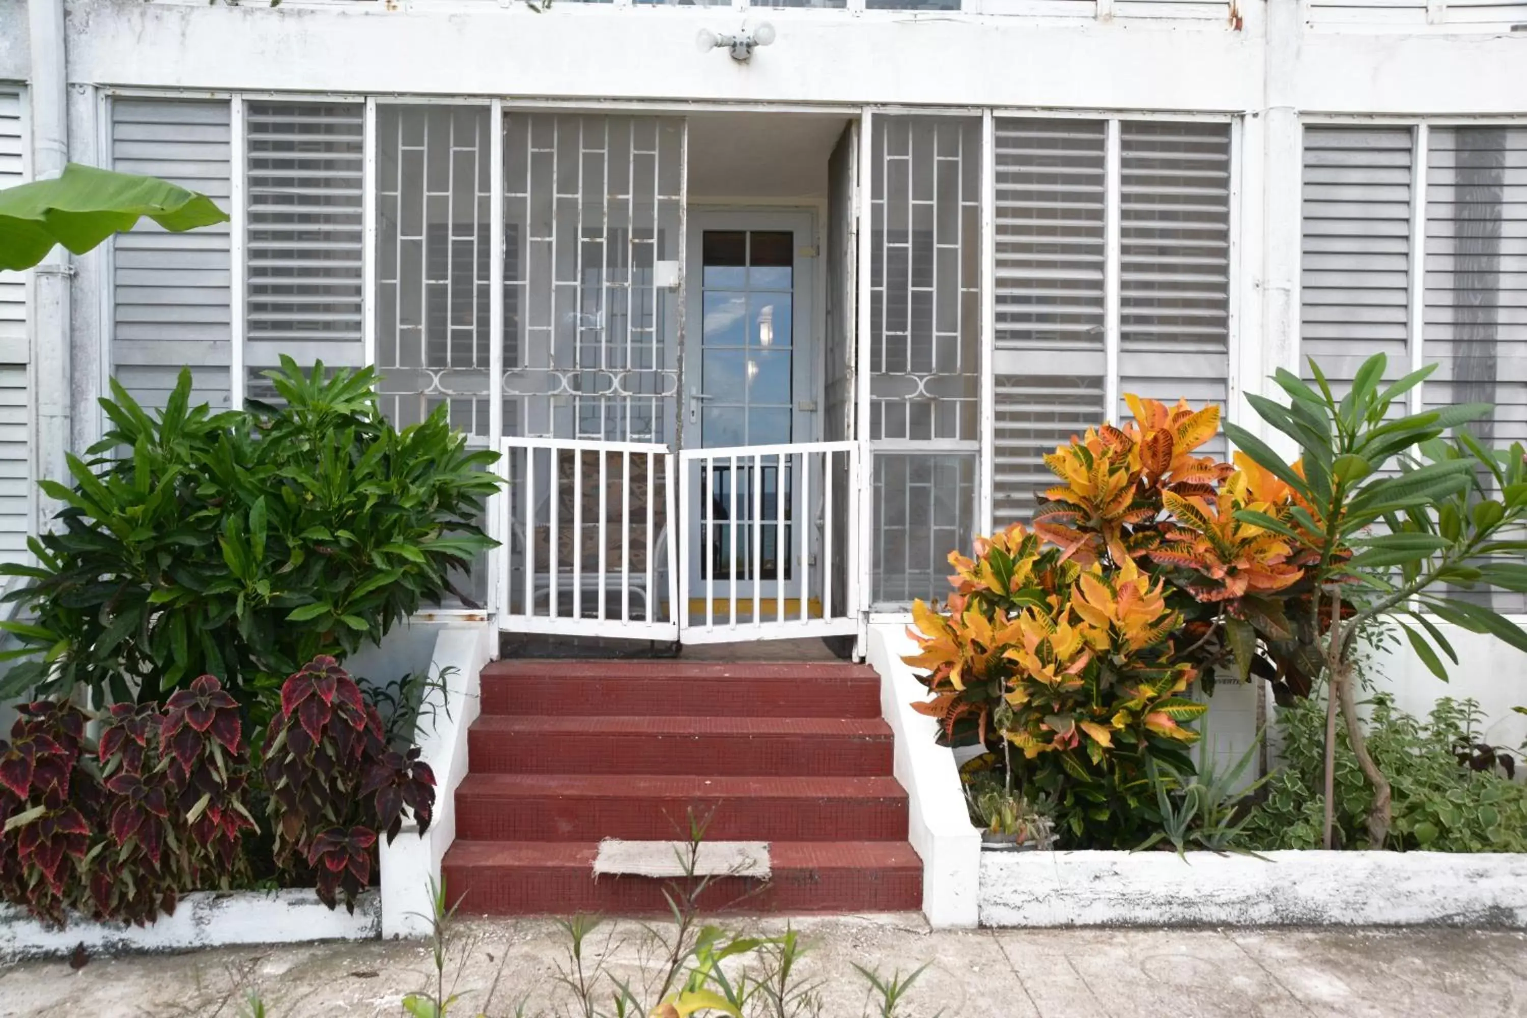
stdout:
[[[1229,125],[1125,121],[1119,133],[1119,392],[1223,408]],[[1223,456],[1223,435],[1203,452]]]

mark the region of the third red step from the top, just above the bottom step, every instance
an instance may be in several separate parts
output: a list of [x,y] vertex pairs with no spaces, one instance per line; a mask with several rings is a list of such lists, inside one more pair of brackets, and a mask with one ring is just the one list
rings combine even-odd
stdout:
[[709,817],[712,841],[904,841],[893,777],[481,774],[457,789],[466,841],[666,841]]

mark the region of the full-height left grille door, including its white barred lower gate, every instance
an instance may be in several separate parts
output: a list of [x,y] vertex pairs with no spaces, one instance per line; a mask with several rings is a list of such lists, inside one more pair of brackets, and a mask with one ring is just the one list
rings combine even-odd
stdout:
[[505,629],[678,636],[681,118],[508,113]]

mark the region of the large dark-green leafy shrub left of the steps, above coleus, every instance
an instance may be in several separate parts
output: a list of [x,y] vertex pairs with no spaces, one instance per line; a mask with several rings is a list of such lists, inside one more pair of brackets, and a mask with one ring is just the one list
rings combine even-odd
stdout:
[[31,659],[0,701],[157,704],[209,673],[250,705],[438,601],[492,545],[475,520],[498,455],[469,450],[444,408],[399,432],[370,368],[282,357],[267,377],[279,406],[211,414],[182,372],[153,417],[111,383],[95,458],[70,458],[73,487],[41,482],[66,508],[31,542],[37,565],[0,568],[27,578],[9,598],[35,615],[5,624]]

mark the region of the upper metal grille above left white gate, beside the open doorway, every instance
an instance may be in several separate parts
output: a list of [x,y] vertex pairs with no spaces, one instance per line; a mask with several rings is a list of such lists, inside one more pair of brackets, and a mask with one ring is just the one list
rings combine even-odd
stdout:
[[684,121],[504,122],[504,432],[673,440]]

